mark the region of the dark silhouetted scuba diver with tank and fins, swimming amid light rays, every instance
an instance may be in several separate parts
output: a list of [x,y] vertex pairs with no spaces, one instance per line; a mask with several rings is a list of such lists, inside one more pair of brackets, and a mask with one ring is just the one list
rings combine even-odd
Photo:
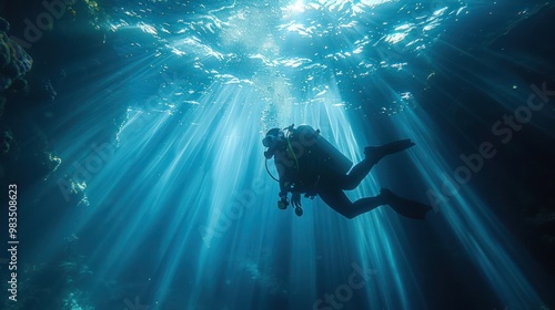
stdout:
[[413,146],[411,140],[367,146],[364,148],[365,158],[354,167],[349,158],[320,135],[320,130],[315,131],[309,125],[272,128],[262,144],[268,147],[264,152],[268,173],[272,176],[268,169],[268,161],[272,157],[278,169],[279,178],[272,178],[280,183],[280,209],[285,209],[290,204],[287,193],[292,193],[291,203],[297,216],[303,215],[301,194],[310,198],[320,196],[326,205],[346,218],[354,218],[382,205],[389,205],[396,213],[414,219],[424,219],[432,209],[427,205],[402,198],[386,188],[382,188],[375,197],[361,198],[354,203],[343,192],[356,188],[370,169],[386,155]]

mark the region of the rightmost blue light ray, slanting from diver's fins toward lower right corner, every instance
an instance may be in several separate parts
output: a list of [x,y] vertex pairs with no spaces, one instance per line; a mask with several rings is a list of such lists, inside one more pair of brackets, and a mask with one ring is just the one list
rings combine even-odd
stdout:
[[432,120],[413,111],[407,114],[396,127],[413,136],[423,148],[422,154],[412,153],[411,158],[426,180],[427,195],[437,215],[448,223],[467,257],[481,269],[500,300],[509,308],[542,307],[528,276],[521,268],[522,261],[531,260],[526,251],[515,250],[517,246],[509,241],[509,234],[470,186],[452,183],[458,179],[456,169],[447,165],[436,152],[438,147],[431,143],[445,141]]

